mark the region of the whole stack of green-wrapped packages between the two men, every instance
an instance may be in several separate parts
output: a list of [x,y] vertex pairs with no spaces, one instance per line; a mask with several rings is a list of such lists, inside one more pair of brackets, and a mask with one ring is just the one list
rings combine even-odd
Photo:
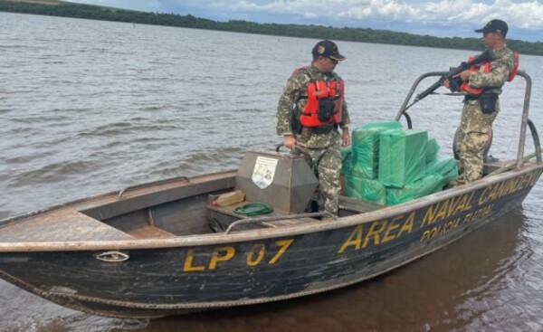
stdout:
[[344,194],[376,204],[400,204],[441,191],[458,175],[456,161],[438,157],[439,145],[426,131],[397,121],[370,122],[342,148]]

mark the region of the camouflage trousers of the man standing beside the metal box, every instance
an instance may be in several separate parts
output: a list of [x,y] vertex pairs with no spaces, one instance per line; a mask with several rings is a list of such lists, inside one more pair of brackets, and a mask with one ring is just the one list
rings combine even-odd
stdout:
[[341,171],[339,142],[327,148],[300,146],[298,148],[308,161],[308,165],[319,176],[319,211],[338,214],[339,173]]

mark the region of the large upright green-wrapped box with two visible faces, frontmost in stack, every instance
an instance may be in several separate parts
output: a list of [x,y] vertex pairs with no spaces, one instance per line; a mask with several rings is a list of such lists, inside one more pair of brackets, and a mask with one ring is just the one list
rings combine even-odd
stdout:
[[392,129],[379,136],[379,181],[401,188],[424,176],[428,133],[424,130]]

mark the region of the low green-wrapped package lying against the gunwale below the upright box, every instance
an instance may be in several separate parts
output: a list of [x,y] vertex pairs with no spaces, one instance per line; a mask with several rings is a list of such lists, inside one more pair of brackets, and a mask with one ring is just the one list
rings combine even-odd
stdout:
[[438,193],[449,181],[439,174],[424,175],[422,179],[405,185],[403,188],[386,188],[386,202],[395,205],[423,197],[427,194]]

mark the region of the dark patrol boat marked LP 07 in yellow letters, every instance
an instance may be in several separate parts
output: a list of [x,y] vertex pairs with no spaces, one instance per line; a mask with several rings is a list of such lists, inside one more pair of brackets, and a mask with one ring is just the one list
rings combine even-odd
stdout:
[[[418,82],[432,75],[443,73],[415,81],[396,119],[406,116]],[[525,72],[519,76],[527,92],[518,159],[505,167],[486,164],[485,176],[472,184],[394,206],[341,196],[339,217],[330,222],[319,220],[322,213],[298,211],[311,181],[300,180],[305,175],[297,171],[289,177],[281,167],[302,165],[298,159],[251,152],[237,171],[138,185],[6,219],[0,222],[0,277],[62,306],[119,318],[291,299],[370,279],[517,209],[529,194],[543,163],[528,118],[531,81]],[[527,128],[536,161],[523,156]],[[257,188],[259,158],[277,167],[271,183]],[[281,176],[302,184],[274,187]],[[213,204],[240,186],[247,201]],[[272,213],[236,210],[262,200],[271,202]]]

